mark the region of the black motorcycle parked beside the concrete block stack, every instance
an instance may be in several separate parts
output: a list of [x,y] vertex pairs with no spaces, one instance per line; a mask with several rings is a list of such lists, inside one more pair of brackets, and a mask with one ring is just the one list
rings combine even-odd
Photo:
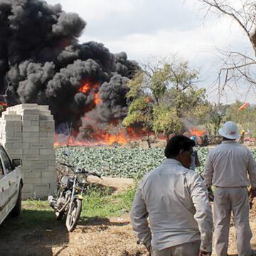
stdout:
[[[68,151],[64,151],[64,154],[65,156],[70,155]],[[94,172],[86,171],[84,168],[65,163],[60,164],[67,166],[73,172],[73,175],[60,177],[57,185],[57,197],[48,196],[48,202],[50,207],[53,208],[57,220],[61,220],[66,215],[66,228],[68,232],[73,232],[80,218],[83,194],[89,184],[87,177],[92,175],[101,178],[101,176]]]

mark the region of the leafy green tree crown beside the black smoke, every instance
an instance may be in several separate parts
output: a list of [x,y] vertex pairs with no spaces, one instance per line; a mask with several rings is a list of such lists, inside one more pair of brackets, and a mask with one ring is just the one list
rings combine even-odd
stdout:
[[[127,97],[132,100],[123,124],[141,124],[148,132],[182,132],[182,118],[192,117],[201,105],[206,105],[206,90],[195,84],[198,71],[188,68],[188,62],[174,57],[144,65],[143,70],[128,82]],[[199,118],[199,115],[198,115]],[[150,146],[150,145],[149,145]]]

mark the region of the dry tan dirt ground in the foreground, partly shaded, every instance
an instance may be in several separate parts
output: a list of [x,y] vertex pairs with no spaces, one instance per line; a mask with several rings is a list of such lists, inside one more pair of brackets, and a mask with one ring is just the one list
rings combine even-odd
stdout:
[[[132,180],[104,178],[102,184],[113,186],[115,193],[131,186]],[[35,214],[35,213],[34,213]],[[85,218],[73,233],[67,233],[65,223],[51,223],[48,215],[38,215],[40,223],[30,228],[18,227],[18,221],[6,220],[0,226],[0,256],[146,256],[144,246],[137,245],[129,214],[118,218]],[[23,220],[20,220],[23,221]],[[256,250],[256,206],[252,209],[252,249]],[[32,228],[33,227],[33,228]],[[229,254],[235,256],[235,232],[230,227]],[[213,255],[215,255],[213,253]]]

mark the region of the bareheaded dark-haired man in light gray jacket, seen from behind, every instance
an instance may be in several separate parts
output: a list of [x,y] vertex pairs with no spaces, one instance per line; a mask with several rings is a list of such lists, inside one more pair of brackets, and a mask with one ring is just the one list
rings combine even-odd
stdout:
[[132,228],[153,256],[211,254],[208,191],[201,177],[189,170],[193,145],[182,135],[171,138],[165,149],[167,159],[146,174],[137,188]]

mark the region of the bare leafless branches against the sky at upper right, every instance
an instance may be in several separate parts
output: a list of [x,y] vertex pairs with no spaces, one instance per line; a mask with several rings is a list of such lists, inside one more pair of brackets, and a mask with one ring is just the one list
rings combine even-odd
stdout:
[[[222,93],[226,87],[234,90],[240,82],[249,83],[248,92],[256,85],[256,1],[252,0],[198,0],[206,7],[206,15],[212,11],[218,16],[233,19],[252,46],[250,53],[219,50],[223,58],[223,68],[218,73],[218,90]],[[232,82],[232,83],[231,83]],[[232,84],[232,86],[230,86]]]

